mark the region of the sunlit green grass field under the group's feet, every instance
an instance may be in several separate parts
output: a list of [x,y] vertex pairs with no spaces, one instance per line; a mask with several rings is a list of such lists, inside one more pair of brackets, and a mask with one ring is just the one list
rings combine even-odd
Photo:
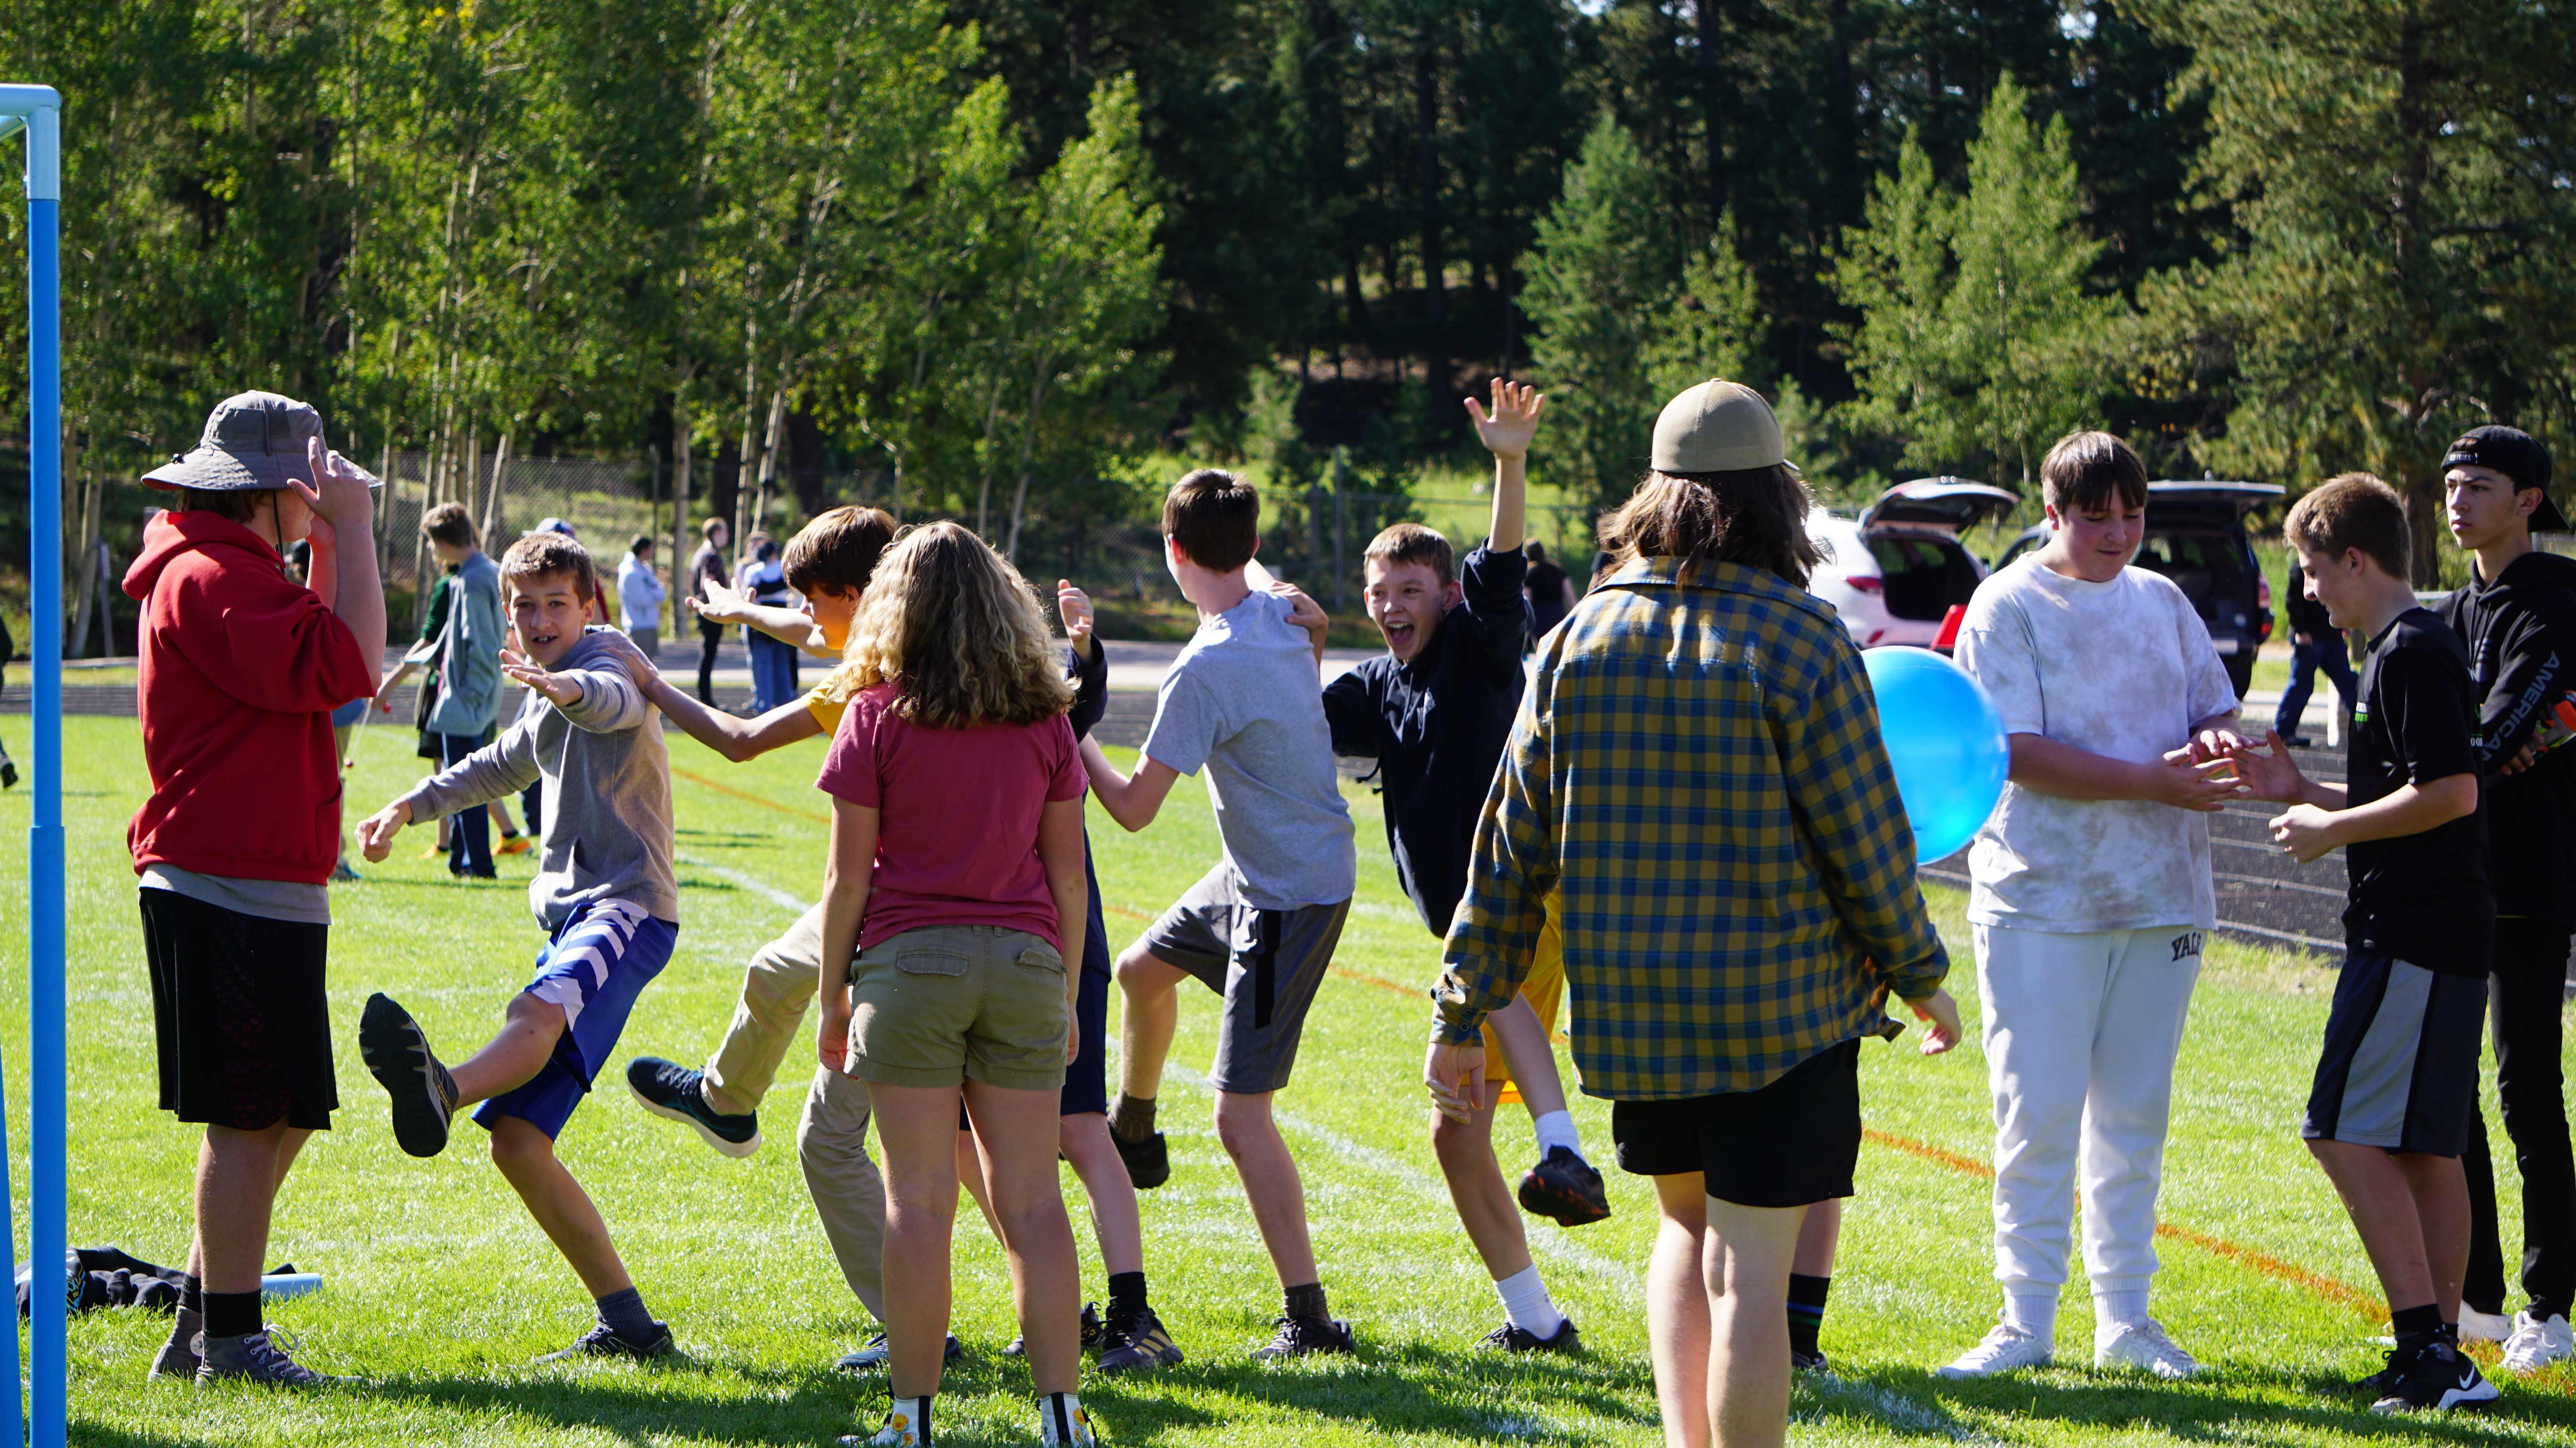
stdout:
[[[26,719],[0,721],[26,757]],[[361,739],[353,801],[371,809],[417,773],[412,737]],[[739,966],[811,899],[822,873],[819,750],[724,765],[672,737],[685,922],[680,951],[644,995],[623,1054],[696,1062],[732,1007]],[[178,1260],[188,1242],[196,1134],[152,1108],[144,984],[124,822],[144,788],[131,721],[70,721],[70,1036],[72,1185],[80,1244],[121,1244]],[[1378,801],[1350,794],[1360,822],[1360,899],[1324,987],[1296,1085],[1280,1110],[1298,1149],[1316,1250],[1334,1311],[1358,1324],[1360,1355],[1247,1360],[1267,1337],[1275,1283],[1195,1077],[1175,1072],[1164,1123],[1175,1177],[1144,1201],[1154,1296],[1190,1363],[1151,1378],[1092,1381],[1087,1402],[1115,1443],[1368,1443],[1370,1448],[1533,1440],[1659,1443],[1638,1268],[1654,1234],[1641,1180],[1613,1172],[1615,1216],[1582,1232],[1533,1221],[1558,1301],[1592,1345],[1584,1360],[1502,1360],[1473,1350],[1499,1322],[1458,1232],[1425,1139],[1417,1085],[1435,951],[1396,894]],[[0,917],[23,920],[28,794],[0,796]],[[183,1443],[829,1443],[863,1415],[878,1384],[840,1378],[829,1360],[866,1335],[832,1268],[793,1162],[796,1090],[768,1108],[770,1144],[744,1162],[647,1116],[623,1087],[603,1090],[564,1134],[564,1159],[598,1196],[647,1301],[696,1358],[688,1368],[623,1363],[526,1368],[590,1322],[572,1273],[482,1159],[464,1129],[440,1159],[394,1149],[384,1098],[355,1054],[358,1005],[386,989],[420,1013],[448,1051],[497,1023],[538,946],[526,861],[505,881],[453,884],[420,861],[425,832],[337,897],[332,1015],[337,1129],[314,1139],[278,1208],[273,1260],[327,1278],[322,1293],[270,1317],[301,1358],[371,1386],[283,1396],[147,1384],[167,1319],[100,1311],[72,1322],[72,1440],[100,1448]],[[1110,933],[1131,938],[1216,855],[1206,796],[1175,791],[1141,837],[1095,819]],[[1960,897],[1932,907],[1958,953],[1953,976],[1973,1013]],[[23,1000],[18,930],[0,940],[5,1000]],[[2375,1366],[2380,1319],[2370,1270],[2324,1177],[2295,1139],[2331,976],[2308,961],[2236,946],[2213,951],[2184,1043],[2169,1154],[2159,1317],[2218,1371],[2190,1386],[2097,1376],[2081,1366],[1942,1384],[1929,1371],[1991,1322],[1984,1062],[1976,1046],[1917,1059],[1870,1046],[1865,1103],[1878,1139],[1860,1159],[1842,1270],[1824,1345],[1837,1376],[1801,1381],[1801,1443],[2576,1443],[2576,1373],[2506,1384],[2481,1420],[2375,1420],[2329,1391]],[[26,1183],[23,1013],[0,1013],[8,1064],[10,1180]],[[1206,1067],[1206,1000],[1185,1010],[1177,1064]],[[1971,1033],[1973,1041],[1973,1033]],[[791,1080],[801,1080],[791,1072]],[[1607,1159],[1607,1110],[1577,1108],[1587,1144]],[[1528,1149],[1525,1118],[1504,1123],[1507,1157]],[[2506,1172],[2509,1175],[2509,1172]],[[1066,1175],[1084,1283],[1103,1293]],[[2506,1203],[2506,1219],[2514,1219]],[[18,1208],[21,1232],[26,1208]],[[23,1242],[23,1237],[21,1237]],[[943,1440],[1033,1440],[1028,1381],[999,1355],[1010,1299],[999,1252],[974,1211],[956,1242],[958,1335],[971,1345],[945,1381]],[[2076,1273],[2081,1283],[2081,1273]],[[2066,1363],[2089,1363],[2089,1306],[2074,1286],[2061,1324]]]

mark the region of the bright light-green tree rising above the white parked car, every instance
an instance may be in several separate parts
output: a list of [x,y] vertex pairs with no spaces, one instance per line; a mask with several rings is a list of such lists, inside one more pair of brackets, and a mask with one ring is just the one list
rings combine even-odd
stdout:
[[2012,77],[1968,144],[1965,196],[1909,137],[1837,265],[1860,312],[1857,417],[1904,435],[1906,464],[2027,484],[2058,435],[2099,420],[2115,314],[2084,291],[2099,250],[2076,227],[2066,124],[2035,126]]

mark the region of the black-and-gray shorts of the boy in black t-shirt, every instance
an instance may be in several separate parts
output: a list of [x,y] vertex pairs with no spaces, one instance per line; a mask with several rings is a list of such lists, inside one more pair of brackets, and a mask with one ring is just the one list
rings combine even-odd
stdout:
[[2344,956],[2298,1134],[2458,1157],[2478,1110],[2483,1023],[2483,974],[2452,976],[2388,956]]

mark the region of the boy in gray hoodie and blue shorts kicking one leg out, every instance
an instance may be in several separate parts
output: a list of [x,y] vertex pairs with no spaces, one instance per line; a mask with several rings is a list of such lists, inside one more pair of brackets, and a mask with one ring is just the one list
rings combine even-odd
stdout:
[[384,995],[366,1002],[358,1051],[392,1095],[394,1139],[415,1157],[446,1149],[456,1110],[482,1103],[474,1121],[492,1134],[492,1165],[598,1301],[598,1324],[541,1360],[665,1358],[677,1353],[670,1327],[644,1309],[608,1224],[554,1141],[680,935],[670,760],[652,703],[608,644],[582,629],[600,593],[590,554],[562,533],[528,533],[502,554],[500,572],[518,644],[502,654],[502,672],[528,685],[518,721],[366,819],[358,843],[381,861],[415,814],[453,814],[541,783],[528,904],[546,925],[546,948],[502,1031],[453,1069]]

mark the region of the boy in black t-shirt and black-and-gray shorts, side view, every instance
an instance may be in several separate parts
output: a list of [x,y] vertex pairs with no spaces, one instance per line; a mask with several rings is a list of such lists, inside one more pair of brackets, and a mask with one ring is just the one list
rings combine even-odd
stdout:
[[2344,474],[2290,508],[2308,595],[2370,639],[2347,786],[2300,776],[2280,732],[2233,747],[2254,799],[2290,809],[2272,840],[2300,861],[2336,845],[2352,871],[2344,969],[2300,1136],[2326,1167],[2388,1293],[2396,1348],[2360,1386],[2372,1412],[2483,1407],[2494,1384],[2458,1350],[2468,1270],[2460,1152],[2478,1108],[2478,1020],[2496,902],[2470,739],[2468,652],[2406,585],[2406,508]]

